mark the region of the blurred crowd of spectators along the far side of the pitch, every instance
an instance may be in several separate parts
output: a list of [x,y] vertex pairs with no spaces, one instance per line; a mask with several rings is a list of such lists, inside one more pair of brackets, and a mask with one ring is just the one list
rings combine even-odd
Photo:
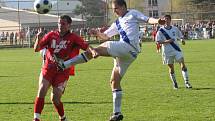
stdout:
[[[185,25],[174,24],[177,26],[183,33],[185,39],[211,39],[215,38],[215,21],[213,22],[199,22],[195,24],[186,23]],[[101,32],[104,32],[108,27],[102,26],[98,27]],[[143,38],[154,39],[157,30],[160,28],[159,25],[144,25],[140,28]],[[89,27],[76,28],[71,31],[80,35],[84,40],[98,40],[98,38],[90,33]],[[47,28],[44,28],[45,33],[50,31]],[[7,43],[9,45],[32,45],[34,42],[34,37],[38,32],[38,28],[22,28],[20,32],[8,32],[0,31],[0,43]]]

